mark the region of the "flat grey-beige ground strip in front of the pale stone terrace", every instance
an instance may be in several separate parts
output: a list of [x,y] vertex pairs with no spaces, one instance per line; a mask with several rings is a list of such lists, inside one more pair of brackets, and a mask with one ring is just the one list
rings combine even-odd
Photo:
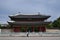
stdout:
[[60,37],[0,37],[0,40],[60,40]]

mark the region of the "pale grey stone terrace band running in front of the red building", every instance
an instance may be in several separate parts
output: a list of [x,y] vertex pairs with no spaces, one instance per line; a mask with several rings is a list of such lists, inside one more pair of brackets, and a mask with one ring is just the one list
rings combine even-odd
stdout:
[[[24,36],[26,37],[28,33],[6,33],[6,34],[0,34],[0,36],[16,36],[16,37],[20,37],[20,36]],[[29,37],[60,37],[60,32],[32,32],[28,34]]]

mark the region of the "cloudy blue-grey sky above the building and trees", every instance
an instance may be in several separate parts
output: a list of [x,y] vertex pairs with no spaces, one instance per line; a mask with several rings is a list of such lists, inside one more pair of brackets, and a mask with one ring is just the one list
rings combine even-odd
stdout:
[[0,0],[0,23],[7,23],[9,15],[18,14],[50,15],[49,21],[60,16],[60,0]]

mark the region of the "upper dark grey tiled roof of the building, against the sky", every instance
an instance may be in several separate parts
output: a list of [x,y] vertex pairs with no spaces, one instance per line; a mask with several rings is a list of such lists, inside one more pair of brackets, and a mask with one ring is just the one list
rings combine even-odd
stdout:
[[15,15],[15,16],[9,16],[12,18],[49,18],[50,16],[46,15]]

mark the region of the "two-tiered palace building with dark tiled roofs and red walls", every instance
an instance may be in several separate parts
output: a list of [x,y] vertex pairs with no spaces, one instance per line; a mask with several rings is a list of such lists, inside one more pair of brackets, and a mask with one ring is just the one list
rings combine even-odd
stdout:
[[8,21],[12,32],[46,32],[46,25],[50,22],[47,15],[11,15]]

